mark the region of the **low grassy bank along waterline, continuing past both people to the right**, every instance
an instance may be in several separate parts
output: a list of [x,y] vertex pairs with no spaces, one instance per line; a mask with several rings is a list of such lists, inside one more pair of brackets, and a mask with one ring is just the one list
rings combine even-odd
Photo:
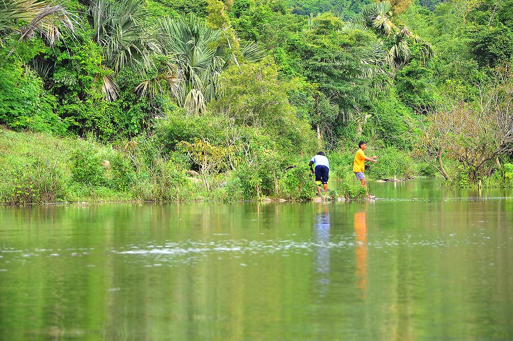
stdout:
[[[314,196],[313,178],[307,166],[311,155],[290,159],[283,163],[287,167],[248,165],[236,157],[234,161],[227,158],[225,169],[205,172],[201,165],[192,162],[187,150],[166,151],[163,137],[167,135],[156,133],[104,145],[92,139],[15,132],[2,127],[0,167],[5,171],[0,178],[0,203],[236,202],[269,198],[310,200]],[[378,148],[376,154],[380,161],[366,171],[369,180],[435,174],[405,152]],[[343,182],[339,193],[331,193],[333,198],[363,196],[365,191],[352,174],[353,151],[330,152],[328,157],[330,178]],[[228,167],[235,162],[239,162],[237,167]],[[200,174],[190,175],[191,170]],[[495,176],[503,177],[501,173]],[[500,183],[505,184],[504,180]]]

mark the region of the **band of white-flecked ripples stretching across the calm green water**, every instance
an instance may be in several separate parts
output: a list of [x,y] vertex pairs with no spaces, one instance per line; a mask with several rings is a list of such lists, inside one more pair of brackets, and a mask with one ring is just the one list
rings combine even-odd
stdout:
[[[511,238],[509,238],[511,239]],[[486,229],[481,228],[469,234],[462,233],[442,233],[436,238],[423,235],[405,234],[401,238],[397,235],[387,235],[385,233],[374,235],[366,243],[358,242],[354,234],[332,235],[329,240],[319,240],[310,238],[306,240],[293,239],[221,239],[221,240],[183,240],[173,242],[168,240],[162,245],[155,241],[147,244],[130,244],[120,248],[109,248],[108,252],[112,255],[124,255],[124,260],[129,263],[139,263],[143,260],[145,265],[150,267],[159,267],[162,265],[172,265],[173,263],[194,262],[198,259],[204,259],[207,256],[213,256],[213,259],[241,258],[243,255],[259,256],[279,254],[289,256],[293,254],[308,256],[318,250],[329,250],[330,252],[343,252],[344,250],[353,250],[355,247],[362,246],[367,249],[395,249],[401,247],[407,248],[458,248],[471,245],[472,247],[485,247],[493,239]],[[509,243],[504,240],[503,244]],[[500,244],[500,243],[499,243]],[[498,245],[497,247],[501,247]],[[10,260],[30,262],[34,257],[73,257],[87,256],[95,253],[103,253],[105,250],[87,249],[87,248],[68,248],[43,249],[35,248],[32,250],[15,250],[12,247],[0,248],[0,253],[5,257],[4,263]],[[381,251],[383,252],[383,251]],[[91,258],[88,258],[91,259]],[[145,259],[145,260],[144,260]],[[242,263],[246,264],[246,263]],[[247,264],[246,264],[247,265]],[[88,267],[94,267],[94,263],[87,263]]]

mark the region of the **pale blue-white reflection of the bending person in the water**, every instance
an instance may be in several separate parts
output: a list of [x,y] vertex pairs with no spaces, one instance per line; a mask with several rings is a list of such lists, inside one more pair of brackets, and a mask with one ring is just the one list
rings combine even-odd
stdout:
[[315,272],[317,273],[317,282],[319,284],[319,294],[326,296],[329,285],[329,234],[330,218],[328,206],[319,204],[318,212],[315,216]]

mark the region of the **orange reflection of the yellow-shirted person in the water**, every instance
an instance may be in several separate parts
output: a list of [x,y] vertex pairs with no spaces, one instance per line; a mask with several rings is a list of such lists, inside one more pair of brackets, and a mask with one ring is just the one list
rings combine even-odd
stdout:
[[354,213],[354,236],[356,239],[356,277],[357,287],[361,290],[362,297],[367,291],[367,222],[366,213]]

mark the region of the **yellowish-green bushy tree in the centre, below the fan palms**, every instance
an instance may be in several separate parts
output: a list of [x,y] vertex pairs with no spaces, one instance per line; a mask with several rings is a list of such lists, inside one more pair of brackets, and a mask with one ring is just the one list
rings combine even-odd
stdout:
[[311,143],[305,119],[290,105],[287,84],[278,81],[271,57],[259,63],[232,66],[220,77],[218,99],[209,108],[238,126],[252,127],[272,136],[282,150],[300,154]]

